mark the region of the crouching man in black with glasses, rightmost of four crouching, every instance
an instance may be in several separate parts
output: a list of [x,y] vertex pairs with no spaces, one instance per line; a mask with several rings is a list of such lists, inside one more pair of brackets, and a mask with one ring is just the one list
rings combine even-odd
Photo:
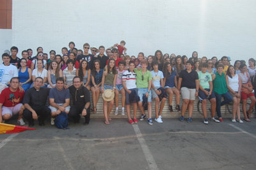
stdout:
[[84,124],[90,123],[90,92],[83,86],[81,77],[76,76],[73,79],[73,85],[69,88],[70,91],[70,111],[68,116],[74,120],[74,123],[78,123],[80,115],[84,116]]

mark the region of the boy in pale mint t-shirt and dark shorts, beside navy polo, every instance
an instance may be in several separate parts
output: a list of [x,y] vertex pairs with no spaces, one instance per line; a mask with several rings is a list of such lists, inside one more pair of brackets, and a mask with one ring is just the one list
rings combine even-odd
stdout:
[[220,122],[215,118],[215,111],[216,111],[216,98],[214,95],[213,86],[212,86],[212,76],[211,73],[206,72],[208,68],[207,63],[202,64],[202,71],[198,72],[198,79],[200,82],[199,85],[199,100],[202,102],[202,112],[204,114],[204,123],[208,124],[207,118],[207,99],[211,102],[211,113],[212,113],[212,121]]

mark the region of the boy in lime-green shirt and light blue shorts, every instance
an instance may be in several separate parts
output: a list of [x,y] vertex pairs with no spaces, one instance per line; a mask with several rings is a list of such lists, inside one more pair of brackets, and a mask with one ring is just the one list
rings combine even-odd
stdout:
[[[151,107],[151,101],[152,101],[152,94],[151,94],[151,79],[152,75],[151,72],[147,70],[148,61],[146,59],[143,59],[141,61],[141,69],[140,71],[135,68],[134,72],[136,73],[136,84],[138,88],[138,96],[140,97],[139,108],[141,111],[141,118],[140,120],[144,120],[146,117],[142,102],[143,102],[143,96],[147,98],[147,106],[148,106],[148,124],[153,125],[152,122],[152,107]],[[145,98],[144,97],[144,98]]]

